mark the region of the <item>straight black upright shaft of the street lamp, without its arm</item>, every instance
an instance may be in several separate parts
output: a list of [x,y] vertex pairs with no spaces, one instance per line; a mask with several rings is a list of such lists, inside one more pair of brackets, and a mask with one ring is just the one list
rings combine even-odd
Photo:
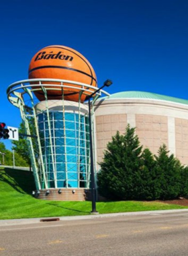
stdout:
[[98,214],[96,210],[96,188],[95,188],[95,174],[93,166],[93,137],[92,137],[92,124],[91,124],[91,102],[88,99],[89,104],[89,140],[90,140],[90,156],[91,156],[91,197],[92,197],[92,211],[91,214]]

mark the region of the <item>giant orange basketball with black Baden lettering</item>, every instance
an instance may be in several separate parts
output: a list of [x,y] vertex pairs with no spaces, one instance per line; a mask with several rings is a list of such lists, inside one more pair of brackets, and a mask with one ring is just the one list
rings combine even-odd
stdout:
[[[42,50],[38,51],[30,62],[28,73],[30,79],[66,79],[97,87],[97,77],[89,61],[87,61],[87,59],[83,57],[81,53],[66,46],[52,45],[44,47]],[[45,84],[49,84],[49,82]],[[70,84],[66,85],[70,86]],[[72,86],[75,86],[75,84],[72,84]],[[46,86],[46,92],[49,100],[62,99],[63,95],[64,100],[79,101],[79,92],[81,86],[75,86],[78,89],[63,88],[62,90],[52,90],[52,88],[48,90],[49,87],[50,86]],[[53,88],[60,88],[60,86],[55,86]],[[42,89],[34,91],[34,94],[39,100],[45,99]],[[81,102],[83,102],[85,98],[86,95],[83,92]]]

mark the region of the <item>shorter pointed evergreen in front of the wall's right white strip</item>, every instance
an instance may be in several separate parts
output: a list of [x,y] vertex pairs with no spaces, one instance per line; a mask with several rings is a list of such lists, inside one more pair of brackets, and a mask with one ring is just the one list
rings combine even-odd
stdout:
[[175,199],[181,191],[181,164],[173,154],[169,156],[164,144],[158,150],[156,158],[156,179],[158,179],[158,195],[156,199]]

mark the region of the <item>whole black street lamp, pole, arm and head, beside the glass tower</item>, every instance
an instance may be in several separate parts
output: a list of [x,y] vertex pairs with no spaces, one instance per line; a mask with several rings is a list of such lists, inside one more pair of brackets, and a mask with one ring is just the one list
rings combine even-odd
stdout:
[[102,88],[105,86],[109,87],[111,86],[112,81],[107,79],[103,86],[101,86],[99,89],[97,89],[95,92],[93,92],[91,95],[87,96],[86,100],[88,100],[89,105],[89,140],[90,140],[90,154],[91,154],[91,199],[92,199],[92,211],[91,214],[97,214],[96,210],[96,187],[95,187],[95,173],[94,173],[94,163],[93,163],[93,137],[92,137],[92,125],[91,125],[91,102],[90,99],[95,95],[97,92],[99,92]]

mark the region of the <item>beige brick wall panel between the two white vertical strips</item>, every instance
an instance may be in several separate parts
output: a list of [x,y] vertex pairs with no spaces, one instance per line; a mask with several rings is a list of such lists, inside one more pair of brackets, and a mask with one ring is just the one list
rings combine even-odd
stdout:
[[168,141],[168,118],[159,115],[136,115],[136,134],[144,148],[157,154],[159,147]]

